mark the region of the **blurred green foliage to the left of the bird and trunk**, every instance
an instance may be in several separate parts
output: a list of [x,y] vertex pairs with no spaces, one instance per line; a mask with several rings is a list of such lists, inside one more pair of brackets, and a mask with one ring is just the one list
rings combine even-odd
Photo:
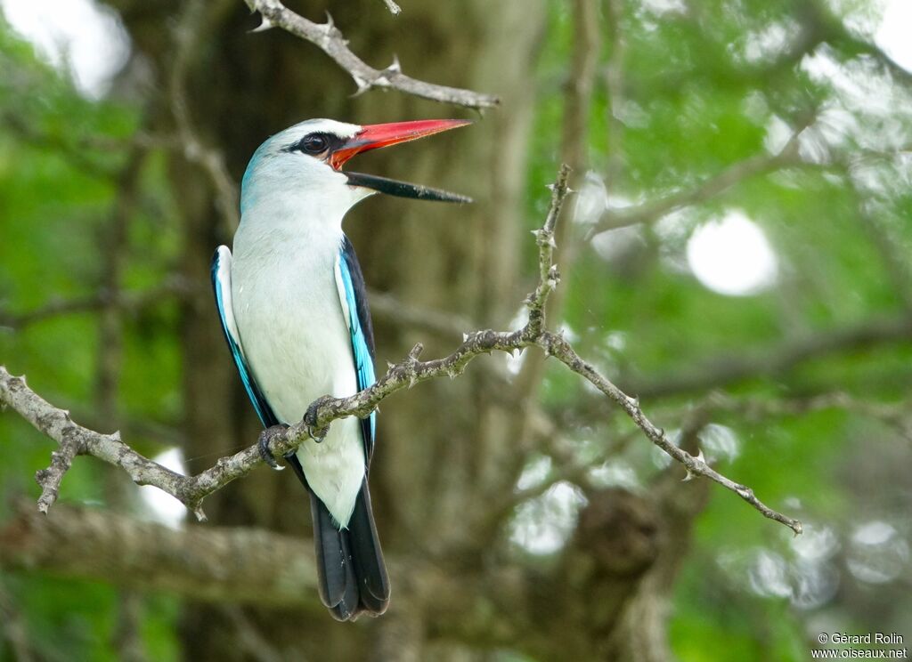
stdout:
[[[49,302],[98,292],[99,249],[117,194],[124,146],[138,127],[140,108],[80,97],[2,21],[0,69],[5,72],[0,76],[0,311],[16,319]],[[123,279],[130,290],[161,280],[177,248],[175,224],[164,215],[170,203],[161,163],[150,159],[144,169],[143,195],[149,200],[131,228]],[[128,321],[119,391],[125,418],[174,423],[180,415],[175,321],[176,310],[167,301]],[[0,362],[13,372],[27,372],[29,385],[49,400],[88,416],[97,382],[97,312],[49,317],[22,329],[3,328],[4,323],[0,319]],[[133,441],[143,452],[155,453],[155,440]],[[3,520],[18,499],[36,498],[33,476],[47,464],[53,443],[21,419],[3,416],[0,447]],[[60,501],[107,504],[107,480],[100,464],[75,463]],[[118,658],[112,646],[117,589],[15,575],[0,576],[0,592],[20,611],[42,659]],[[170,596],[144,601],[141,635],[150,659],[177,658],[176,615],[177,602]],[[0,645],[0,659],[11,655],[10,648]]]

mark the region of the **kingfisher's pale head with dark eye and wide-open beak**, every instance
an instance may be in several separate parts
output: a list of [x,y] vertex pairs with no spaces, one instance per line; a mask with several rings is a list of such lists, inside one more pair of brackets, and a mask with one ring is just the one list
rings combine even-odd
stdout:
[[241,187],[241,210],[281,196],[339,219],[374,193],[403,198],[471,202],[464,196],[417,184],[343,171],[349,158],[440,131],[471,124],[463,119],[422,119],[358,126],[332,119],[308,119],[266,140],[256,152]]

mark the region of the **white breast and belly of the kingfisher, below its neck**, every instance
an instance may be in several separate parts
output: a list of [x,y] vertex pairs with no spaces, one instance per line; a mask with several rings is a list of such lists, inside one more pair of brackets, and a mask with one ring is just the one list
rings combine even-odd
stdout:
[[[242,223],[234,238],[233,312],[254,380],[282,423],[321,395],[358,391],[339,300],[341,229]],[[346,525],[365,473],[358,419],[333,423],[322,443],[297,452],[307,483]]]

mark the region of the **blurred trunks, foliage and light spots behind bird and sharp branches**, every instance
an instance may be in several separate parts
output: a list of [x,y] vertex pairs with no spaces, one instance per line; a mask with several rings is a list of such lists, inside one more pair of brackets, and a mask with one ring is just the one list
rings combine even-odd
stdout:
[[760,661],[809,659],[822,632],[912,640],[912,5],[400,5],[289,3],[372,66],[501,107],[354,96],[315,46],[252,33],[241,0],[2,0],[0,363],[202,471],[258,432],[208,273],[254,148],[309,117],[468,117],[359,158],[476,200],[348,215],[378,369],[522,322],[565,161],[552,325],[804,534],[682,482],[560,364],[482,357],[383,403],[392,604],[339,624],[290,472],[230,484],[198,525],[78,458],[39,518],[55,445],[5,412],[0,659]]

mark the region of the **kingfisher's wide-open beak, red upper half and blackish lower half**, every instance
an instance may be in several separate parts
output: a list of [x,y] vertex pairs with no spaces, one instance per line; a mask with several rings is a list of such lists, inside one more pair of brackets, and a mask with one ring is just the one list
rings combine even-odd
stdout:
[[[389,124],[371,124],[363,127],[357,134],[350,137],[341,147],[329,155],[329,164],[341,170],[349,158],[370,149],[378,149],[417,140],[420,137],[433,136],[440,131],[451,128],[464,127],[472,124],[466,119],[420,119],[414,122],[390,122]],[[439,200],[440,202],[472,202],[457,193],[428,188],[418,184],[409,184],[376,175],[364,175],[359,172],[346,172],[348,184],[364,188],[373,188],[380,193],[401,198],[415,198],[421,200]]]

